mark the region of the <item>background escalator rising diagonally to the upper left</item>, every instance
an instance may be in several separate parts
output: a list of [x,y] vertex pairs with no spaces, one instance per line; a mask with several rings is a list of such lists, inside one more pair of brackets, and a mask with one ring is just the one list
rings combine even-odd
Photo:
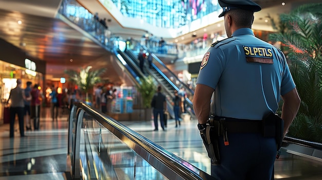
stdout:
[[[172,98],[174,97],[173,91],[177,90],[179,92],[180,88],[185,88],[185,92],[187,94],[187,97],[185,98],[186,109],[190,116],[192,118],[195,118],[192,102],[190,101],[190,99],[192,99],[193,97],[194,92],[191,89],[189,89],[189,87],[186,84],[181,82],[180,79],[170,69],[168,69],[167,66],[162,61],[160,61],[160,59],[155,54],[152,54],[152,68],[150,69],[148,68],[148,66],[145,66],[144,71],[147,74],[143,74],[139,69],[137,53],[130,49],[122,48],[127,46],[126,42],[120,41],[118,38],[112,37],[109,37],[108,41],[106,41],[106,36],[103,31],[93,32],[93,29],[91,29],[91,27],[95,27],[94,21],[88,21],[86,23],[84,23],[83,21],[75,21],[75,19],[77,19],[78,16],[69,13],[64,14],[67,12],[62,11],[62,9],[63,8],[59,10],[57,18],[60,18],[63,22],[69,24],[72,27],[75,27],[75,29],[83,31],[83,33],[87,34],[87,36],[90,37],[94,42],[102,45],[102,47],[104,47],[106,51],[114,53],[117,59],[119,60],[119,62],[117,62],[118,66],[121,67],[121,69],[125,69],[124,72],[128,75],[128,77],[132,80],[132,82],[135,85],[139,86],[140,78],[147,75],[151,75],[155,79],[155,82],[157,84],[162,85],[164,93],[168,97],[168,111],[170,116],[172,117],[174,117],[173,107],[171,105]],[[87,29],[85,27],[87,27]],[[88,27],[90,27],[90,29],[88,29]],[[136,47],[137,49],[144,49],[148,51],[147,47],[141,46],[139,43],[137,43]]]

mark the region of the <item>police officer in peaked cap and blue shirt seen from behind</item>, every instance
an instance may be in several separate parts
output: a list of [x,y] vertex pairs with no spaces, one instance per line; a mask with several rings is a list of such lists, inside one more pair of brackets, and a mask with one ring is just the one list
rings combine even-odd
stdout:
[[[274,137],[263,136],[257,122],[277,111],[281,96],[284,128],[280,129],[284,136],[300,98],[284,54],[256,38],[251,29],[254,12],[261,7],[251,0],[218,2],[228,38],[212,44],[205,53],[193,98],[201,132],[210,111],[230,123],[218,137],[220,164],[212,163],[211,175],[221,180],[268,180],[272,178],[277,144]],[[255,126],[248,126],[249,122]]]

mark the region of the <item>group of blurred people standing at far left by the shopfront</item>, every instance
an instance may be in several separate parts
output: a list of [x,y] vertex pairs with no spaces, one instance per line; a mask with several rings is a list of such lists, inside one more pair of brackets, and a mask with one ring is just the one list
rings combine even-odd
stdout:
[[[14,122],[17,115],[19,120],[20,135],[25,136],[24,129],[27,131],[39,130],[40,128],[40,112],[45,105],[46,96],[40,90],[38,84],[32,85],[26,82],[26,88],[22,88],[22,80],[17,79],[17,86],[10,91],[7,104],[10,104],[10,137],[14,136]],[[67,111],[72,96],[66,91],[57,92],[58,88],[51,87],[48,96],[51,108],[52,121],[58,121],[58,114]]]

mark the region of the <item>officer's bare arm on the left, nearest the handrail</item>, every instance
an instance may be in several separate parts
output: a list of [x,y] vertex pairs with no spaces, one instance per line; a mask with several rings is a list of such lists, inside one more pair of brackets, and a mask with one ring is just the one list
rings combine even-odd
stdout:
[[213,91],[213,88],[202,84],[198,84],[195,87],[193,95],[193,110],[198,118],[199,124],[207,123],[210,112],[210,99]]

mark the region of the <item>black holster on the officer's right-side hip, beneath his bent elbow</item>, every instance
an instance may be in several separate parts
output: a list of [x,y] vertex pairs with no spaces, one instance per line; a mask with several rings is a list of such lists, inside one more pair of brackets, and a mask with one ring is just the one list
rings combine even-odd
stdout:
[[277,151],[282,146],[284,121],[277,114],[269,113],[262,119],[262,133],[264,137],[275,137]]

